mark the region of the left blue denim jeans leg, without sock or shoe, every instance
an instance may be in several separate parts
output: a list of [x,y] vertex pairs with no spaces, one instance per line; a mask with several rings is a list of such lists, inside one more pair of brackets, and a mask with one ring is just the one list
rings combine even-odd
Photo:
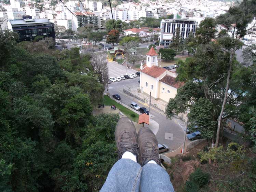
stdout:
[[100,192],[138,192],[142,167],[130,159],[120,159],[108,173]]

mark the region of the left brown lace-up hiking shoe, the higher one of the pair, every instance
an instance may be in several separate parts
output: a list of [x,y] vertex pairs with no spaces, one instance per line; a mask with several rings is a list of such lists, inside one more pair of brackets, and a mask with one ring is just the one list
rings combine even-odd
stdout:
[[117,143],[118,160],[122,158],[125,151],[137,155],[138,158],[137,133],[133,122],[129,118],[122,117],[119,119],[114,134]]

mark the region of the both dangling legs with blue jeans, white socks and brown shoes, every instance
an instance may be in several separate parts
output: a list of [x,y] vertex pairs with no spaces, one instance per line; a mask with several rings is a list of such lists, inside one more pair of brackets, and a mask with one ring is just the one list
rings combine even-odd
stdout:
[[160,166],[156,136],[123,117],[115,131],[118,161],[100,192],[174,192],[169,174]]

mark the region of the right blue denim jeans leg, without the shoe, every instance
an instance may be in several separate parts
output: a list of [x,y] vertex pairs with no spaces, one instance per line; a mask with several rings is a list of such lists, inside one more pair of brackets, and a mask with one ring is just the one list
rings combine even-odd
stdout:
[[142,167],[140,192],[174,192],[169,174],[158,164],[147,163]]

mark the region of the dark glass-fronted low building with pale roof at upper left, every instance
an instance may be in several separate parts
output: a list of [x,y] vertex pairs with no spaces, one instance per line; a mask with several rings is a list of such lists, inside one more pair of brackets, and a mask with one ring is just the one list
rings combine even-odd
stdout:
[[19,41],[32,41],[36,36],[52,37],[55,41],[54,24],[48,19],[24,16],[23,19],[9,20],[8,28],[19,34]]

